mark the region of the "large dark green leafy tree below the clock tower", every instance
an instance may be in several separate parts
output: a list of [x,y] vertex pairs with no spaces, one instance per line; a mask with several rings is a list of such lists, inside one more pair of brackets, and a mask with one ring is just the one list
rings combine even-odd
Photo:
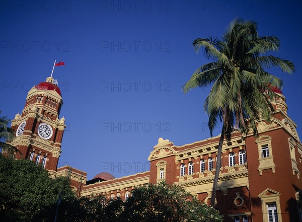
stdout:
[[65,177],[52,179],[30,160],[0,154],[0,218],[3,221],[53,221],[59,192],[58,221],[81,221],[85,209]]

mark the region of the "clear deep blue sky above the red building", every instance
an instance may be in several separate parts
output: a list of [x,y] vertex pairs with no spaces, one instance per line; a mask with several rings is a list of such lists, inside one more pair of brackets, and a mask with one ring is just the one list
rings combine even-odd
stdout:
[[[284,80],[288,114],[301,133],[299,1],[2,1],[0,109],[13,119],[27,92],[50,76],[54,59],[66,119],[59,166],[115,177],[148,170],[159,137],[183,145],[209,137],[203,102],[209,91],[183,95],[200,65],[196,38],[223,35],[236,17],[276,35],[275,53],[294,62]],[[215,130],[219,134],[220,127]]]

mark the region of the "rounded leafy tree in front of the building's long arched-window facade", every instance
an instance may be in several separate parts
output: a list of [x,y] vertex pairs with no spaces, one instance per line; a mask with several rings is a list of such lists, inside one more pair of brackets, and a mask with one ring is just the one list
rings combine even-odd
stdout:
[[133,189],[118,215],[120,221],[131,222],[222,221],[217,210],[185,189],[165,182]]

